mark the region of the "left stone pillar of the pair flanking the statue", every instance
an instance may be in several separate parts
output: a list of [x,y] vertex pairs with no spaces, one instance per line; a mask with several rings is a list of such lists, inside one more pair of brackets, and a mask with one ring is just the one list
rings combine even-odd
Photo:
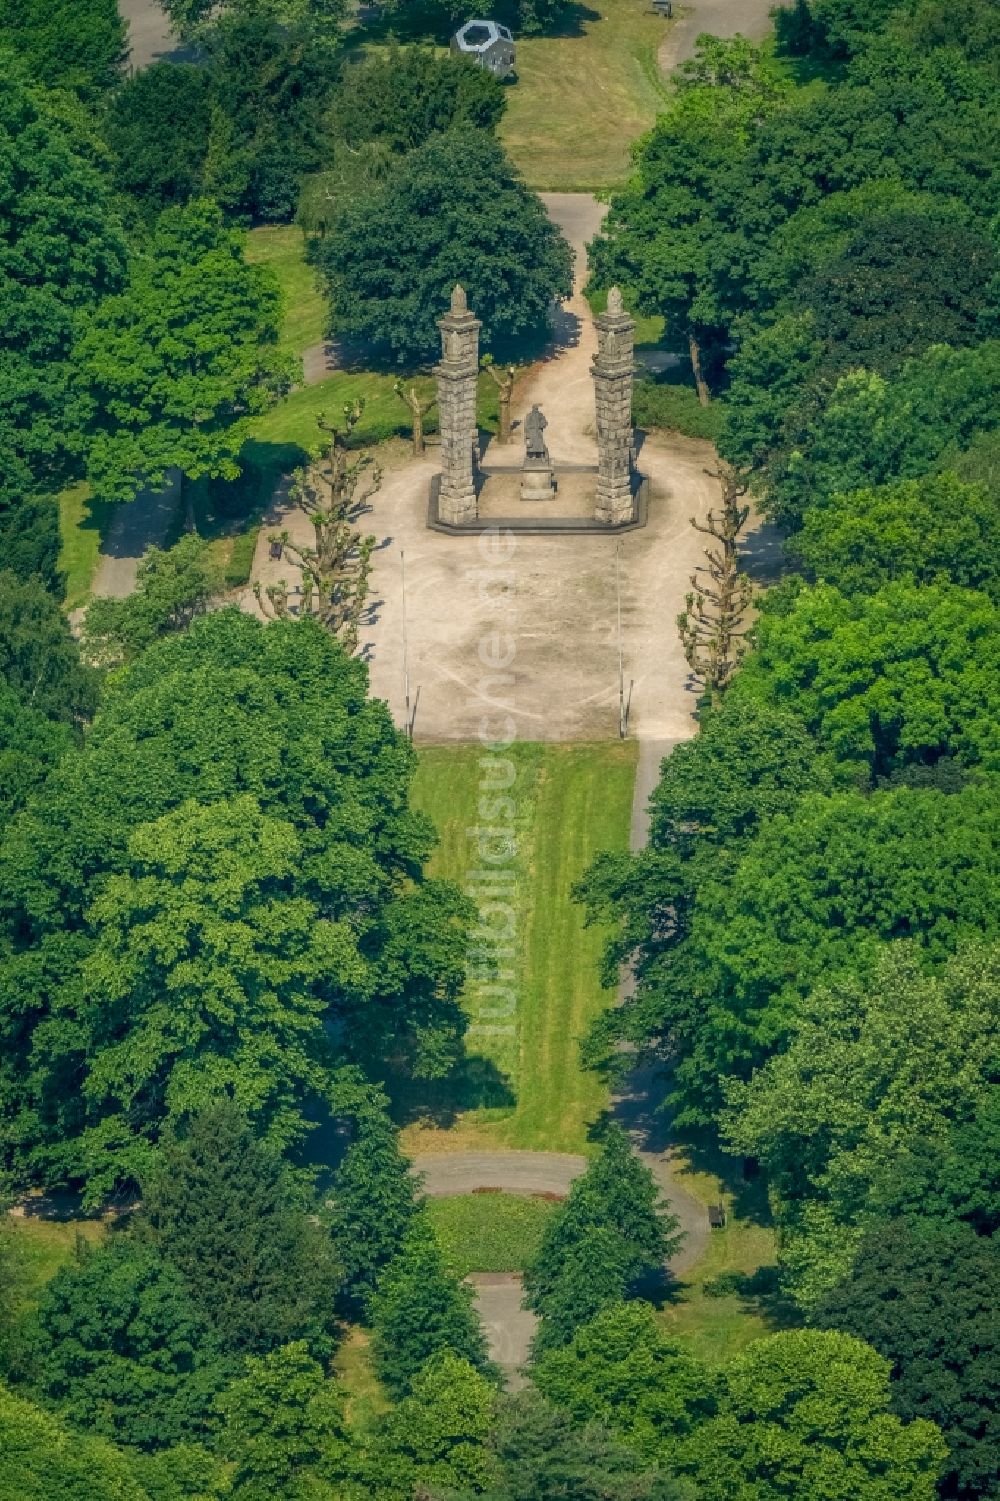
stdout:
[[476,387],[479,384],[479,330],[465,293],[456,287],[452,306],[437,320],[441,363],[435,368],[437,407],[441,420],[441,488],[438,516],[453,525],[476,519]]

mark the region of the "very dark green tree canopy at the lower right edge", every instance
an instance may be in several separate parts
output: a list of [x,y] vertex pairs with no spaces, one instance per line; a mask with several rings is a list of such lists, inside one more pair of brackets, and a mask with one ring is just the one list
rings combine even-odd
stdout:
[[1000,1241],[901,1219],[872,1226],[815,1310],[890,1361],[893,1411],[937,1423],[949,1450],[943,1492],[968,1501],[1000,1484],[998,1307]]

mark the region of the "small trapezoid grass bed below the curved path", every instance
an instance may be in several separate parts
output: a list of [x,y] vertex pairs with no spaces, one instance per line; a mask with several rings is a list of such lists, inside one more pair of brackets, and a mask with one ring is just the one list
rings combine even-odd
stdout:
[[527,1193],[458,1193],[426,1210],[456,1277],[470,1271],[524,1271],[538,1255],[553,1199]]

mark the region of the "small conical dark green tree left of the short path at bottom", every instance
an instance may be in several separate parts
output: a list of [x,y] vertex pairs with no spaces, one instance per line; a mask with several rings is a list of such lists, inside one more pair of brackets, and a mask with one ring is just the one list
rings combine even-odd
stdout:
[[371,1318],[378,1373],[395,1396],[404,1396],[423,1363],[444,1351],[492,1373],[471,1288],[446,1270],[423,1216],[414,1219],[383,1271]]

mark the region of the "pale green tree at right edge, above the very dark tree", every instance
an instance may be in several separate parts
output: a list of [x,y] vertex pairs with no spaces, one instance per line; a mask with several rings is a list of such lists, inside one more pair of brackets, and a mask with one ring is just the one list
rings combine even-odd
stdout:
[[992,1082],[1000,955],[971,946],[925,974],[908,944],[799,1006],[787,1052],[730,1087],[725,1129],[767,1166],[782,1259],[809,1303],[841,1276],[898,1163],[931,1153]]

